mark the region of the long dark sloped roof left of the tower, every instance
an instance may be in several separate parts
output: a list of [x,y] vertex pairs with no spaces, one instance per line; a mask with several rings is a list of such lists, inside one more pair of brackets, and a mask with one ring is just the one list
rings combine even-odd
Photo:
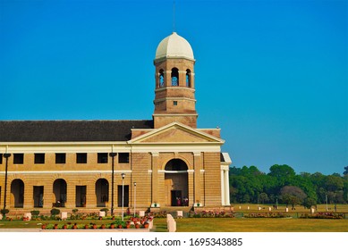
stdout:
[[0,121],[0,142],[127,141],[131,129],[153,121]]

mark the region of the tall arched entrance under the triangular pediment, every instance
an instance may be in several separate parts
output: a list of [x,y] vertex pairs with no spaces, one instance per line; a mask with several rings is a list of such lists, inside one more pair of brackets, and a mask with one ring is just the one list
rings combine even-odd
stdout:
[[173,159],[165,167],[166,205],[189,205],[188,167],[180,159]]

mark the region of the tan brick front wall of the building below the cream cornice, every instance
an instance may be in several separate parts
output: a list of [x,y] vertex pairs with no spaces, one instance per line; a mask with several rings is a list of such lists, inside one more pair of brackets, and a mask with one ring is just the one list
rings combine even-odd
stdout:
[[[101,150],[99,153],[106,153],[108,147],[102,148],[102,146],[98,146],[98,150]],[[124,147],[122,148],[124,151]],[[206,205],[221,205],[220,154],[218,152],[202,152],[201,149],[198,151],[194,146],[191,147],[192,152],[180,152],[175,147],[173,147],[174,151],[170,152],[167,150],[167,148],[170,148],[169,145],[163,147],[166,149],[164,152],[160,152],[158,146],[154,148],[156,150],[149,150],[150,152],[130,154],[128,163],[119,163],[119,154],[115,156],[115,208],[119,204],[118,199],[120,197],[118,195],[118,186],[121,186],[122,183],[124,186],[129,187],[128,205],[131,208],[133,207],[134,182],[137,183],[137,207],[149,207],[150,204],[155,202],[163,206],[170,205],[168,201],[171,200],[170,192],[173,188],[183,188],[182,196],[187,194],[190,205],[197,201]],[[22,148],[17,146],[16,152],[25,152],[26,149],[28,148],[25,146]],[[38,196],[38,193],[34,194],[34,191],[38,192],[40,187],[43,187],[43,208],[51,208],[56,205],[57,197],[55,196],[54,183],[57,179],[64,179],[66,182],[67,192],[64,205],[65,208],[69,209],[76,207],[78,204],[79,194],[76,189],[78,186],[86,186],[85,205],[87,208],[96,208],[98,204],[103,204],[101,203],[100,195],[98,196],[100,191],[96,190],[96,183],[100,179],[106,179],[109,187],[108,200],[104,205],[111,208],[112,158],[110,156],[108,156],[107,163],[98,163],[98,152],[93,152],[92,148],[89,148],[89,153],[87,154],[88,162],[76,163],[76,153],[72,153],[71,149],[67,148],[67,152],[69,151],[70,153],[66,154],[66,162],[64,164],[56,164],[55,153],[52,151],[54,148],[51,147],[50,151],[45,154],[45,163],[35,164],[34,153],[31,149],[32,146],[30,146],[30,152],[24,154],[23,164],[13,164],[13,154],[9,158],[7,208],[12,209],[16,204],[18,205],[18,201],[15,202],[15,196],[12,194],[13,191],[15,191],[14,193],[21,191],[17,190],[17,187],[12,188],[12,183],[18,184],[20,182],[18,179],[24,183],[24,203],[22,204],[24,209],[32,209],[34,207],[35,195]],[[62,146],[59,146],[59,152],[62,152],[63,149]],[[131,148],[128,148],[129,152],[131,150]],[[140,151],[139,148],[138,151]],[[45,152],[39,150],[38,153]],[[166,173],[166,163],[172,159],[180,159],[185,162],[188,169],[186,177],[184,177],[186,179],[182,179],[184,174]],[[0,164],[0,201],[2,205],[4,203],[4,167],[5,160],[3,159]],[[122,180],[121,173],[125,173],[124,180]],[[173,187],[168,186],[168,181],[175,182],[172,184]],[[185,184],[187,185],[187,190],[184,187]],[[18,200],[18,194],[16,196]]]

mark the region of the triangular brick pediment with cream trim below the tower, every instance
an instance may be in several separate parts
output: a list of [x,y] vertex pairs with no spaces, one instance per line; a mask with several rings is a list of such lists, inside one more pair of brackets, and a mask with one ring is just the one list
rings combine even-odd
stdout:
[[219,137],[192,129],[180,122],[170,123],[159,129],[151,129],[140,137],[135,137],[129,143],[132,144],[157,144],[157,143],[224,143]]

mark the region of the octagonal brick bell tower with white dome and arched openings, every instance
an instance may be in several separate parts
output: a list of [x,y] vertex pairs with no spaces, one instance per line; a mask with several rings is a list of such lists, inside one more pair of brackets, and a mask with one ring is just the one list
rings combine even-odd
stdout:
[[157,46],[155,129],[173,121],[197,128],[194,63],[189,42],[175,32]]

